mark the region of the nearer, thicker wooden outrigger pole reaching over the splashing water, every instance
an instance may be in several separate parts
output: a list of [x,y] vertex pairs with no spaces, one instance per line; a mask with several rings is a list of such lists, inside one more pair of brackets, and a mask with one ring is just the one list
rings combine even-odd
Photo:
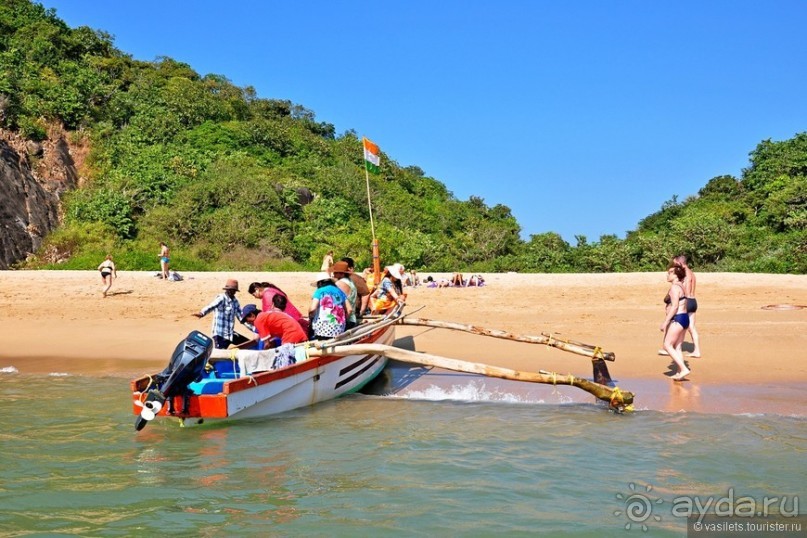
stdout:
[[430,355],[428,353],[408,351],[406,349],[386,346],[383,344],[354,344],[347,346],[333,346],[323,349],[309,348],[307,353],[309,357],[322,357],[328,355],[337,355],[340,357],[346,355],[383,355],[387,358],[395,359],[401,362],[419,364],[421,366],[433,366],[455,372],[480,374],[489,377],[498,377],[501,379],[511,379],[513,381],[525,381],[527,383],[570,385],[593,394],[598,400],[608,402],[608,405],[612,409],[620,412],[624,410],[631,410],[634,398],[634,394],[632,392],[600,385],[587,379],[574,377],[573,375],[559,375],[552,372],[543,371],[539,373],[521,372],[518,370],[511,370],[509,368],[491,366],[488,364],[461,361],[458,359],[440,357],[438,355]]

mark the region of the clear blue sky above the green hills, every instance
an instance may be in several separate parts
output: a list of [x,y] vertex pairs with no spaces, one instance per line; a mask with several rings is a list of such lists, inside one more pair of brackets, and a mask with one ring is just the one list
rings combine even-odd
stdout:
[[353,129],[525,239],[624,237],[807,130],[803,0],[42,4]]

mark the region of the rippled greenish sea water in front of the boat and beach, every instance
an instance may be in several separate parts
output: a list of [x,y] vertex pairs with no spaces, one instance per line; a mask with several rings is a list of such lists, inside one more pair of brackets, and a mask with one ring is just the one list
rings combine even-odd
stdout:
[[681,536],[682,497],[807,504],[807,417],[353,395],[135,433],[128,390],[0,373],[0,535]]

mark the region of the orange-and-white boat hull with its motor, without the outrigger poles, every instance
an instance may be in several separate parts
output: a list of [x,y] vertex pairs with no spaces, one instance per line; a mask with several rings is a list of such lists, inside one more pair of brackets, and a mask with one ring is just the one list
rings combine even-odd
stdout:
[[[193,331],[163,372],[131,382],[135,428],[143,429],[156,417],[173,417],[183,426],[266,417],[356,392],[384,369],[387,357],[321,351],[351,344],[391,346],[401,312],[396,308],[331,340],[295,346],[295,364],[249,375],[242,374],[244,362],[234,352],[213,350],[209,337]],[[320,353],[309,356],[309,350]]]

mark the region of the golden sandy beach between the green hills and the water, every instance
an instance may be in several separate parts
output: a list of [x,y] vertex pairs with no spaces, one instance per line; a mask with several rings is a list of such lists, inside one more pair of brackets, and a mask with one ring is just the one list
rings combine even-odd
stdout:
[[[182,273],[181,282],[164,282],[154,275],[119,271],[104,298],[95,271],[0,272],[0,368],[121,377],[161,370],[188,332],[209,333],[212,316],[199,320],[191,314],[210,302],[227,278],[239,280],[242,306],[255,302],[246,293],[249,283],[268,280],[304,310],[313,277],[191,272]],[[684,383],[666,377],[671,361],[657,354],[668,289],[664,273],[485,278],[480,288],[407,288],[407,311],[598,345],[616,354],[608,365],[618,384],[650,408],[731,412],[742,404],[742,411],[807,414],[806,275],[698,273],[703,356],[687,359],[692,374]],[[418,351],[436,355],[591,376],[589,359],[546,346],[419,327],[401,327],[397,334]]]

